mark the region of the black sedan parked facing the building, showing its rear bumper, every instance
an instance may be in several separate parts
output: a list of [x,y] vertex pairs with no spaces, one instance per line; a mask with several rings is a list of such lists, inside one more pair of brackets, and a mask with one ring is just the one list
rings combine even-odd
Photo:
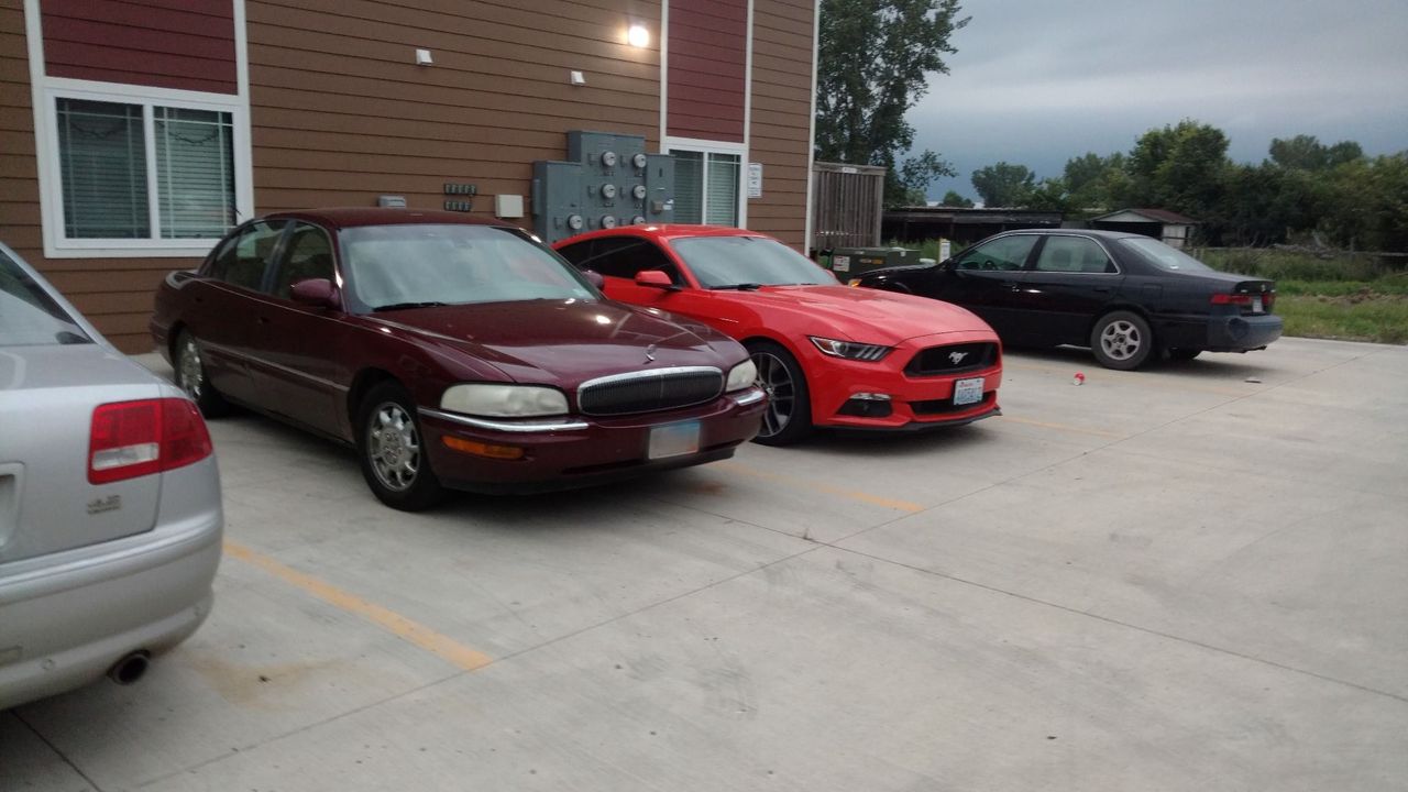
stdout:
[[876,269],[850,285],[956,303],[1008,345],[1090,347],[1102,366],[1125,371],[1281,337],[1274,282],[1218,272],[1136,234],[1008,231],[941,264]]

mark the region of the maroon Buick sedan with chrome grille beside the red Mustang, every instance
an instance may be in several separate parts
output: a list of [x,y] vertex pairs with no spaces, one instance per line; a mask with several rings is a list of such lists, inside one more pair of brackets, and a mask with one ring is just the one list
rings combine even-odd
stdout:
[[724,459],[765,407],[731,338],[453,213],[252,220],[166,278],[151,328],[207,416],[237,403],[355,445],[406,510]]

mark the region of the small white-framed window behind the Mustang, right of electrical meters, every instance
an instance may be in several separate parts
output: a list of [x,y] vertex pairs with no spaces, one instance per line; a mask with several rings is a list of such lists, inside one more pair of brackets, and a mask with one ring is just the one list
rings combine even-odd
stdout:
[[666,140],[674,155],[674,223],[738,225],[748,223],[743,144]]

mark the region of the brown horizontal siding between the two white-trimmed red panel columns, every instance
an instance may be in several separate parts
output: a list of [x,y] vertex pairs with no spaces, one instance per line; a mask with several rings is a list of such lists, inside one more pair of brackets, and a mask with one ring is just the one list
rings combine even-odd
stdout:
[[490,214],[496,194],[529,197],[532,161],[563,159],[569,130],[659,132],[659,42],[622,42],[656,3],[249,0],[248,17],[260,213],[382,193],[439,207],[467,182]]

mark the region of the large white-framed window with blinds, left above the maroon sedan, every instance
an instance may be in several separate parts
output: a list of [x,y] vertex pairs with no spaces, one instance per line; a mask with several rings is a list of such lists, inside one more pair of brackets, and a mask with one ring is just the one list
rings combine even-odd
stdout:
[[48,256],[203,256],[252,214],[239,97],[48,82],[35,114]]

